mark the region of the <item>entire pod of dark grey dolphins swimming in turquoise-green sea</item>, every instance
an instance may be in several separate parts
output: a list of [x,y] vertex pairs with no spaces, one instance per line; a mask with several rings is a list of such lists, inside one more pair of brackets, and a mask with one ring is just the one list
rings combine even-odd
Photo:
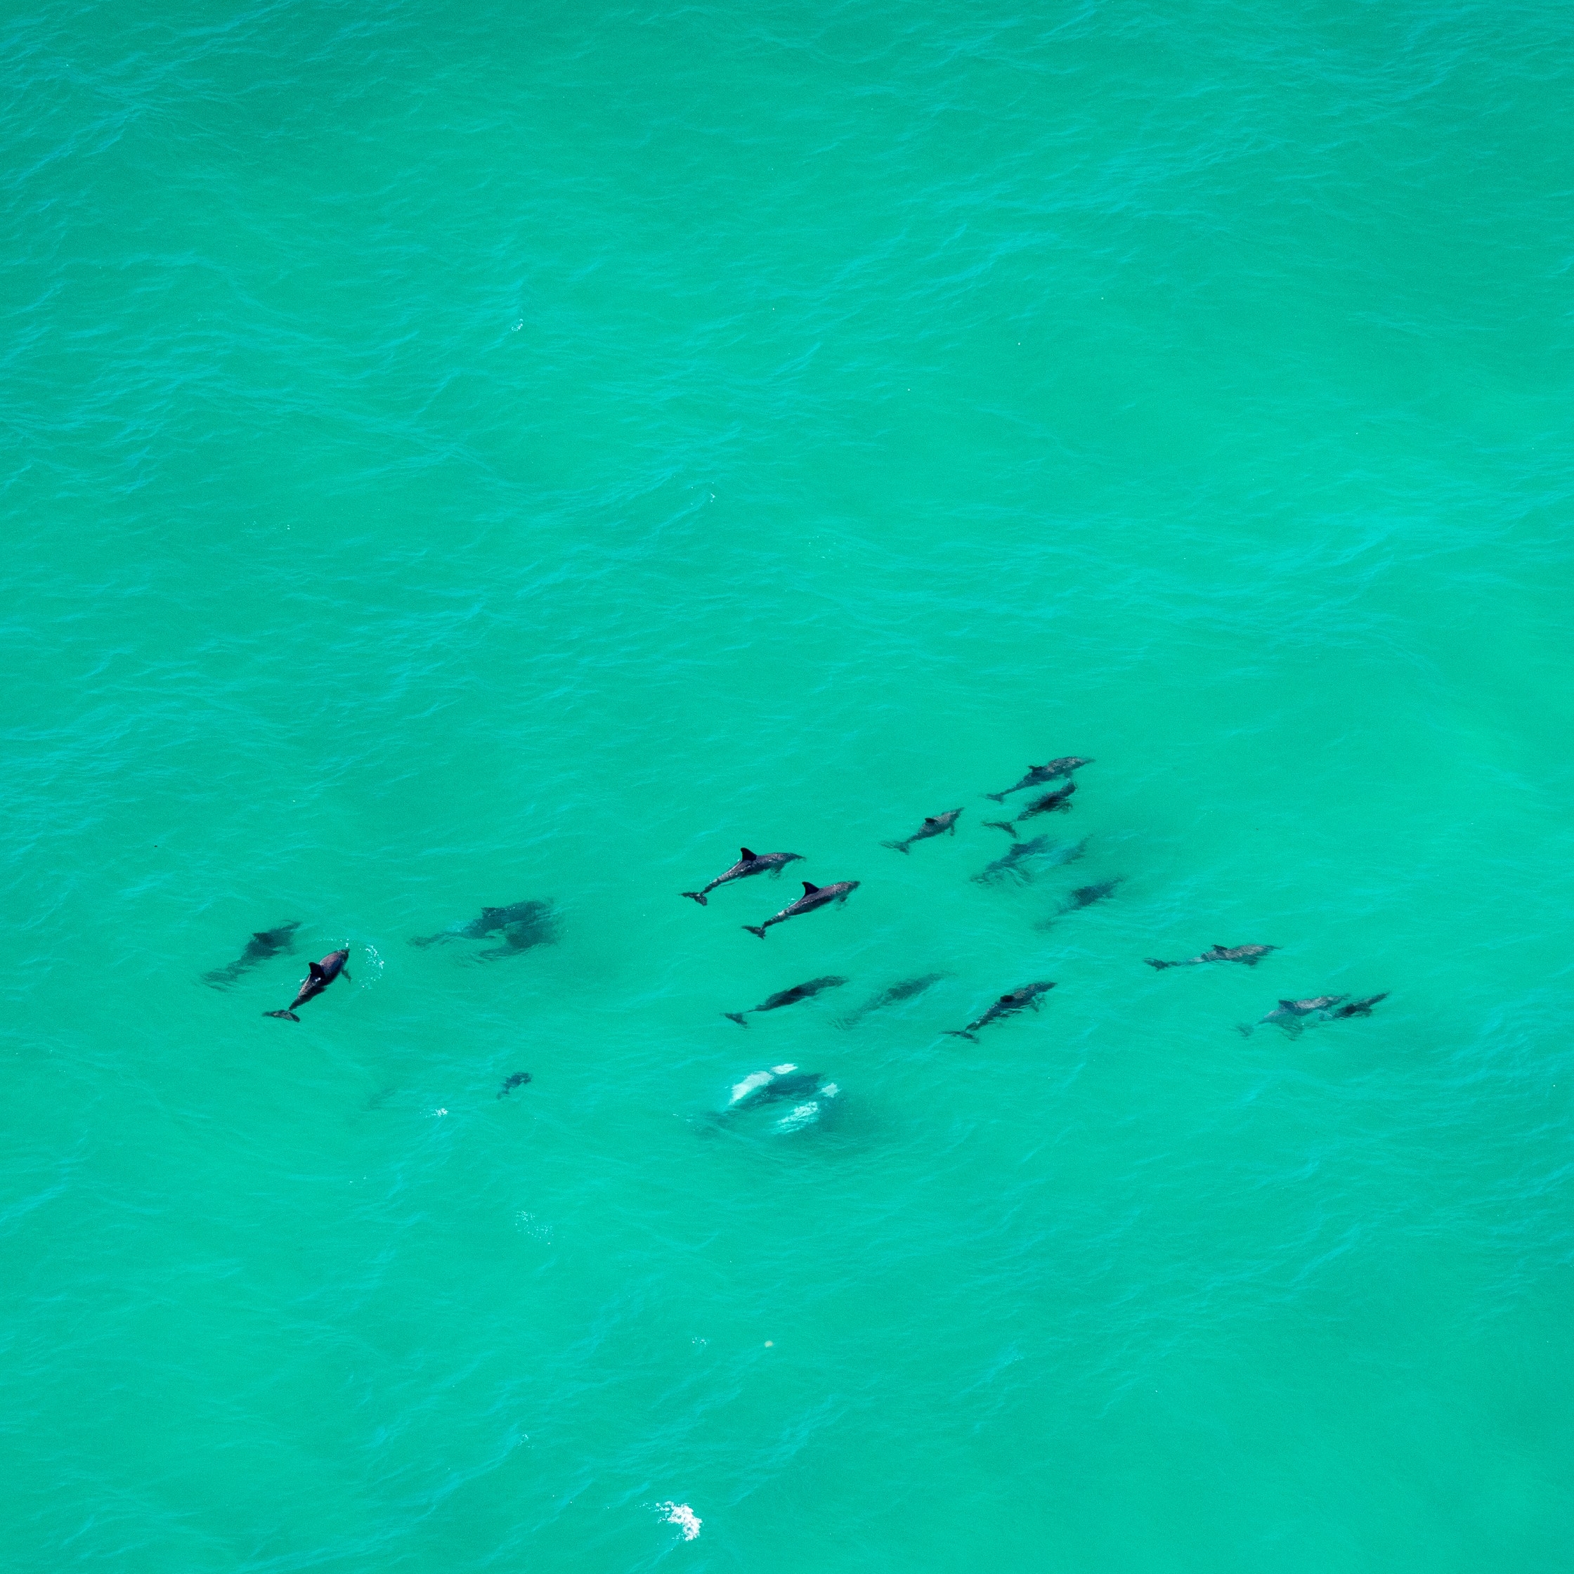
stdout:
[[[1029,787],[1040,787],[1053,781],[1064,781],[1062,787],[1053,789],[1051,792],[1042,793],[1029,801],[1015,820],[982,822],[985,826],[1006,831],[1012,837],[1012,847],[988,867],[973,875],[973,878],[981,885],[995,885],[1006,880],[1023,881],[1033,877],[1033,869],[1036,867],[1069,864],[1081,858],[1088,847],[1086,837],[1075,845],[1053,847],[1048,836],[1036,836],[1033,841],[1022,841],[1017,833],[1017,825],[1040,814],[1070,812],[1073,807],[1070,800],[1077,792],[1077,782],[1072,778],[1084,765],[1092,763],[1094,762],[1091,759],[1069,754],[1061,759],[1050,760],[1045,765],[1031,765],[1028,773],[1004,792],[985,793],[985,796],[992,801],[1004,803],[1012,793],[1023,792]],[[883,842],[881,845],[894,848],[899,853],[911,853],[916,842],[924,842],[935,836],[955,836],[957,820],[962,812],[962,809],[948,809],[944,814],[927,815],[924,823],[911,836],[903,837],[902,841]],[[740,848],[738,861],[729,869],[724,869],[708,885],[700,886],[699,891],[682,891],[678,894],[688,897],[700,907],[707,907],[710,902],[710,892],[716,891],[719,886],[733,885],[738,880],[748,880],[754,875],[763,874],[779,878],[787,864],[800,863],[801,859],[801,853],[756,853],[745,847]],[[1118,875],[1113,880],[1080,886],[1070,892],[1070,897],[1058,911],[1040,921],[1037,927],[1048,929],[1059,916],[1111,897],[1124,883],[1124,875]],[[839,907],[859,888],[859,885],[861,881],[858,880],[836,880],[831,885],[818,886],[804,880],[803,896],[795,897],[784,908],[773,913],[760,924],[745,924],[743,927],[751,935],[757,935],[763,940],[767,932],[776,924],[785,924],[789,919],[803,918],[804,914],[820,911],[822,908]],[[274,955],[293,952],[293,937],[299,927],[299,922],[288,921],[275,926],[274,929],[258,930],[252,935],[246,949],[235,962],[203,974],[205,981],[214,988],[228,988],[230,984],[250,968],[268,962]],[[466,924],[441,930],[436,935],[414,937],[411,938],[411,944],[434,946],[447,944],[455,940],[486,940],[494,937],[501,940],[501,944],[490,951],[478,952],[475,960],[496,960],[501,957],[518,955],[534,946],[551,944],[557,938],[557,913],[549,902],[541,900],[515,902],[510,907],[485,907],[482,908],[478,918],[474,918]],[[1264,957],[1278,949],[1278,946],[1265,944],[1225,946],[1215,943],[1209,946],[1207,951],[1203,951],[1195,957],[1185,957],[1176,962],[1168,962],[1158,957],[1144,957],[1143,960],[1147,966],[1157,971],[1165,971],[1168,968],[1193,968],[1207,962],[1239,962],[1243,966],[1256,968]],[[321,959],[321,962],[309,963],[307,976],[301,981],[301,988],[296,993],[296,998],[283,1009],[268,1011],[263,1012],[263,1015],[299,1022],[301,1018],[296,1015],[297,1007],[307,1004],[307,1001],[316,999],[316,996],[324,993],[324,990],[327,990],[335,979],[349,977],[346,966],[348,962],[349,948],[346,946],[338,951],[331,951]],[[852,1028],[869,1015],[869,1012],[880,1011],[885,1006],[899,1004],[900,1001],[913,999],[938,984],[943,977],[946,977],[944,973],[927,973],[922,977],[903,979],[902,982],[892,984],[878,995],[870,996],[863,1006],[847,1017],[842,1017],[837,1025],[842,1028]],[[778,990],[774,995],[767,996],[748,1011],[729,1011],[722,1015],[746,1028],[746,1018],[749,1015],[781,1011],[787,1006],[795,1006],[800,1001],[812,999],[826,990],[841,988],[845,984],[847,979],[839,974],[809,979],[804,984],[795,984],[790,988]],[[990,1026],[990,1023],[1001,1022],[1006,1017],[1014,1017],[1025,1011],[1039,1011],[1042,998],[1048,995],[1051,988],[1055,988],[1051,981],[1036,979],[1033,982],[1022,984],[1017,988],[1007,990],[1004,995],[992,1001],[973,1022],[966,1023],[966,1026],[948,1028],[946,1036],[966,1039],[976,1044],[979,1031]],[[1297,1037],[1308,1022],[1339,1022],[1352,1017],[1369,1017],[1373,1014],[1373,1007],[1387,998],[1388,993],[1384,992],[1380,995],[1368,995],[1360,999],[1350,999],[1349,995],[1314,995],[1303,999],[1280,999],[1278,1004],[1264,1012],[1258,1022],[1237,1023],[1236,1026],[1239,1033],[1250,1036],[1259,1026],[1273,1025],[1284,1031],[1289,1037]],[[524,1086],[529,1081],[529,1072],[516,1072],[504,1083],[497,1097],[502,1099],[515,1088]],[[823,1099],[834,1097],[836,1092],[836,1084],[825,1083],[818,1072],[801,1072],[796,1066],[779,1066],[773,1067],[770,1072],[756,1072],[752,1077],[745,1078],[745,1081],[733,1089],[732,1100],[722,1113],[754,1108],[759,1103],[771,1102],[774,1099],[804,1099],[807,1102],[800,1103],[785,1122],[778,1122],[779,1130],[795,1130],[815,1119],[820,1111],[820,1102]]]

